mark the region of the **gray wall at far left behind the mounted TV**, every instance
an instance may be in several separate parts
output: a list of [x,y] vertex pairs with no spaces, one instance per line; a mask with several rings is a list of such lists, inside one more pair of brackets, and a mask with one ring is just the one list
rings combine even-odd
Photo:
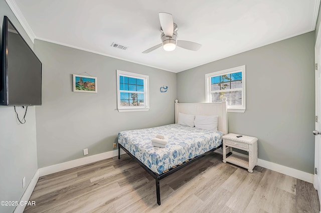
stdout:
[[[0,0],[0,32],[4,15],[16,26],[28,44],[33,43],[5,0]],[[25,109],[17,107],[20,116]],[[37,171],[35,106],[29,106],[27,122],[18,124],[13,106],[0,106],[0,200],[19,201]],[[26,187],[22,178],[26,176]],[[0,212],[12,212],[15,206],[0,206]]]

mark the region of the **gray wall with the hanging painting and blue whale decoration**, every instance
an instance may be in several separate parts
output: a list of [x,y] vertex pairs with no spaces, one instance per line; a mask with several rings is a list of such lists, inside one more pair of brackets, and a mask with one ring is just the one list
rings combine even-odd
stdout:
[[[174,122],[176,73],[42,40],[34,48],[44,85],[36,107],[39,167],[81,158],[84,148],[89,155],[113,150],[121,130]],[[116,69],[149,75],[149,111],[117,111]],[[97,77],[98,93],[72,91],[72,74],[83,72]],[[159,91],[163,85],[168,92]]]

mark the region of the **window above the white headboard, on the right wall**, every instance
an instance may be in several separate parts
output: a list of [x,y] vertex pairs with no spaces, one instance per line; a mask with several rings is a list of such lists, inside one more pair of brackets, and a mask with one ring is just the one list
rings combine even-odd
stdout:
[[245,111],[245,65],[205,75],[206,102],[221,102],[227,97],[228,112]]

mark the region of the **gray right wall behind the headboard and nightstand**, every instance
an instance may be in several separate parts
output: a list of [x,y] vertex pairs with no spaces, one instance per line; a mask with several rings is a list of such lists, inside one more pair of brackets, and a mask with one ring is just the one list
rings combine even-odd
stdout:
[[205,102],[205,74],[246,65],[246,111],[229,132],[258,137],[258,157],[313,173],[314,31],[177,74],[180,102]]

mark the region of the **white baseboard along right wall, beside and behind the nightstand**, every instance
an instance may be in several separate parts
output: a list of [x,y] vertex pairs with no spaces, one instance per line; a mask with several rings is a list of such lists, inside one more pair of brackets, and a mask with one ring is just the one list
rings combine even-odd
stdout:
[[[235,155],[248,157],[248,155],[242,154],[242,153],[239,153],[239,152],[236,152],[236,151],[233,151],[232,153],[235,154]],[[306,182],[313,183],[313,181],[314,181],[314,174],[310,174],[310,173],[307,173],[305,171],[300,171],[300,170],[297,170],[295,168],[290,168],[290,167],[287,167],[287,166],[284,166],[284,165],[280,165],[280,164],[277,164],[277,163],[274,163],[274,162],[262,160],[260,158],[257,159],[257,165],[261,166],[261,167],[264,167],[264,168],[271,169],[273,171],[280,172],[282,174],[286,174],[286,175],[295,177],[297,179],[304,180]]]

